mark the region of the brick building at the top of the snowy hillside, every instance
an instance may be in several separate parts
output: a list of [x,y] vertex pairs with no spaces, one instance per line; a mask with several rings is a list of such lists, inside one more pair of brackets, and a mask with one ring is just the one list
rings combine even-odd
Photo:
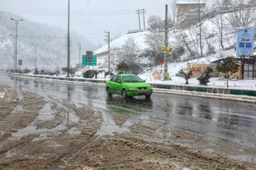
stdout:
[[176,2],[176,23],[195,19],[198,17],[198,6],[204,10],[207,0],[177,0]]

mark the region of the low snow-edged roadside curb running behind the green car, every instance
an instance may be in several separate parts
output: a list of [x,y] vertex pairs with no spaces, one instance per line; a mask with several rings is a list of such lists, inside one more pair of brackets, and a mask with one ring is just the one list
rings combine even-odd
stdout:
[[[48,75],[23,75],[23,74],[10,74],[23,78],[31,78],[44,80],[56,83],[73,83],[76,85],[90,85],[104,87],[106,80],[95,80],[90,78],[73,78],[73,77],[59,77]],[[213,88],[213,87],[198,87],[187,85],[160,85],[150,84],[155,93],[172,94],[172,95],[189,95],[197,97],[206,97],[221,100],[232,100],[256,104],[256,91],[251,90],[238,90],[227,88]]]

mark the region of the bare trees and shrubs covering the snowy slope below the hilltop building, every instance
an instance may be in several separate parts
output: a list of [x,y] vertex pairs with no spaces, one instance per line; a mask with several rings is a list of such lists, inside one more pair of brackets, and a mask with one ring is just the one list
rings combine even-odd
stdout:
[[[209,64],[219,58],[235,55],[237,28],[256,27],[255,9],[255,5],[216,6],[210,11],[201,12],[193,20],[169,25],[168,45],[174,47],[173,55],[168,57],[169,73],[176,75],[181,68],[186,68],[187,63]],[[161,24],[163,21],[159,19],[155,22],[156,26],[151,26],[147,31],[123,35],[111,42],[113,68],[122,61],[128,63],[135,74],[160,67],[158,63],[164,60],[160,49],[164,45],[165,33]],[[95,53],[107,51],[107,45],[104,45]],[[107,63],[107,55],[99,57],[99,69],[106,70]]]

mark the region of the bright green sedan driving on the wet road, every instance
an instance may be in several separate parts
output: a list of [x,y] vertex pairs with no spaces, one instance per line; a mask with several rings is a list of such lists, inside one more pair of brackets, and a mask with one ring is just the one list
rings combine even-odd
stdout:
[[152,86],[145,83],[138,75],[113,75],[106,84],[107,94],[128,96],[145,95],[149,98],[153,94]]

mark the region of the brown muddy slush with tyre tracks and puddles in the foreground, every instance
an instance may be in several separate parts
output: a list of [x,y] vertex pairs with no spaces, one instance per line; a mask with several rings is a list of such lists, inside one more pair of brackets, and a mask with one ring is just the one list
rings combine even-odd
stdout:
[[0,86],[0,169],[256,168],[221,155],[240,155],[239,150],[203,136],[133,122],[129,115]]

